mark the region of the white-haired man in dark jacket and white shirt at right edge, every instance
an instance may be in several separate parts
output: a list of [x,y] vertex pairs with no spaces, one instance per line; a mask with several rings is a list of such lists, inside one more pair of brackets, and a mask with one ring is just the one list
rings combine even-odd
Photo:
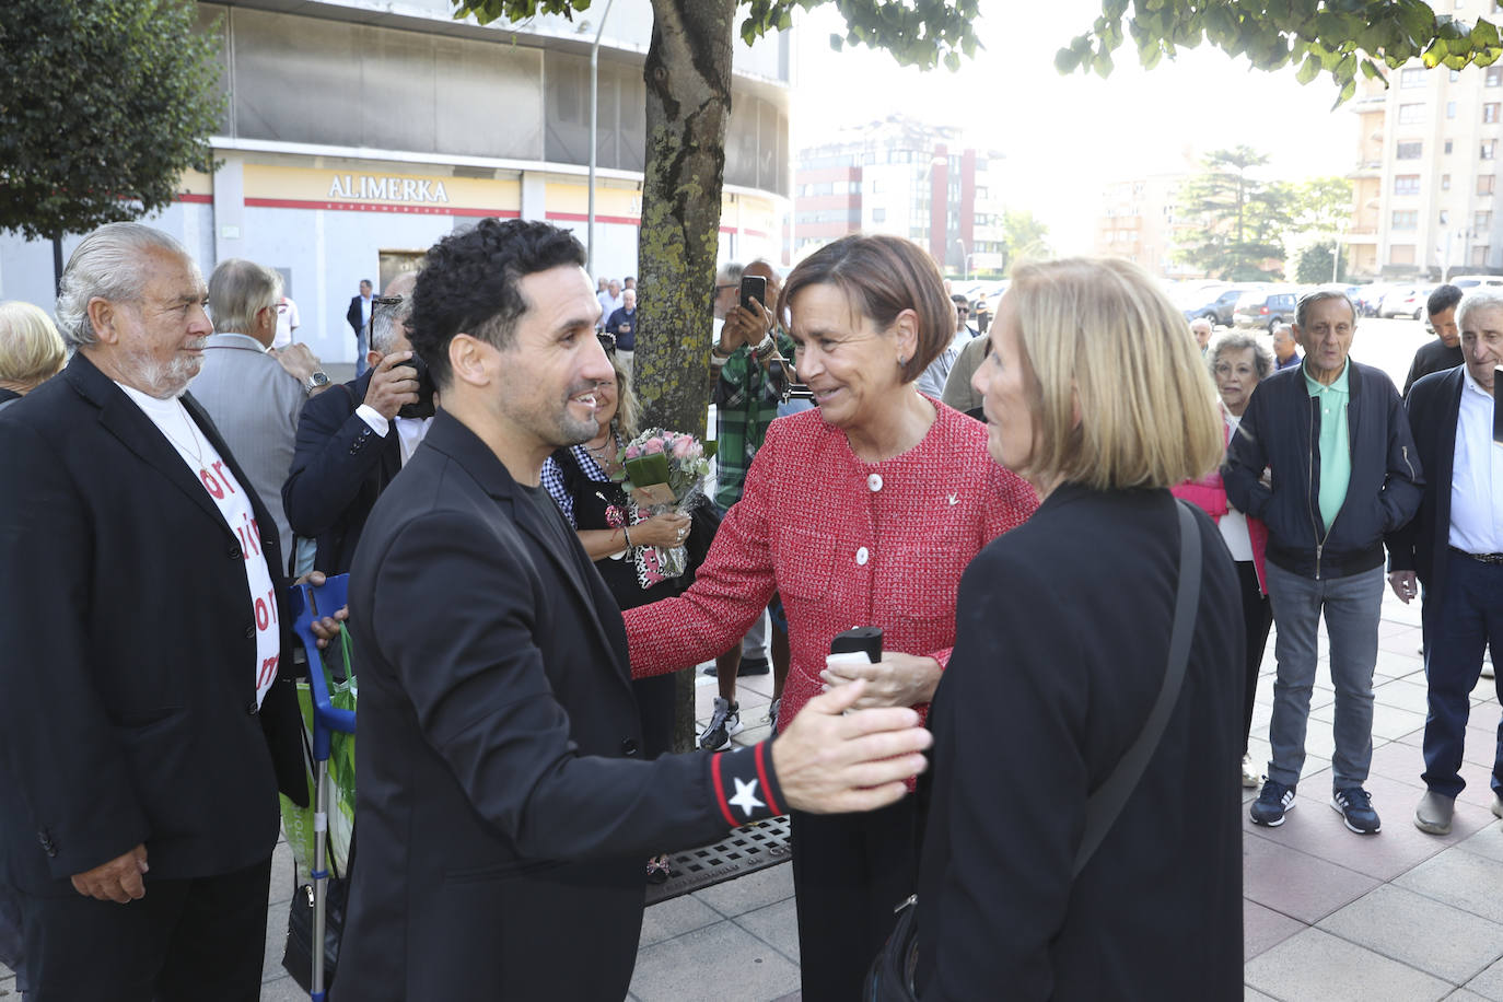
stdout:
[[[1494,442],[1495,371],[1503,365],[1503,293],[1474,291],[1456,309],[1465,364],[1414,383],[1405,407],[1429,473],[1419,514],[1392,533],[1389,584],[1408,602],[1425,586],[1425,787],[1414,811],[1444,835],[1461,778],[1471,690],[1482,653],[1503,641],[1503,446]],[[1503,726],[1498,738],[1503,739]],[[1503,817],[1503,741],[1492,763],[1492,813]]]

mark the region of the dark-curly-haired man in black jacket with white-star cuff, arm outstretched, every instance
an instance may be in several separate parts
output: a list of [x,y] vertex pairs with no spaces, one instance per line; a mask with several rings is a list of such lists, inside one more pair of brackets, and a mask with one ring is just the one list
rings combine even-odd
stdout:
[[427,260],[410,337],[443,410],[350,574],[361,843],[334,997],[621,999],[643,858],[893,802],[927,735],[908,709],[840,715],[852,685],[776,744],[642,760],[621,613],[540,487],[613,379],[585,249],[482,219]]

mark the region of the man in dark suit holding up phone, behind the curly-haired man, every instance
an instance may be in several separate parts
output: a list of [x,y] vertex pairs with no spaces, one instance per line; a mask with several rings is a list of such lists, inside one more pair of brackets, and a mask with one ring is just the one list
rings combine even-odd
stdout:
[[431,406],[425,416],[412,410],[422,404],[404,323],[404,296],[415,278],[413,272],[397,278],[382,296],[401,302],[376,303],[365,374],[310,398],[298,419],[283,506],[292,530],[317,541],[313,565],[326,574],[350,569],[371,505],[401,472],[433,415]]

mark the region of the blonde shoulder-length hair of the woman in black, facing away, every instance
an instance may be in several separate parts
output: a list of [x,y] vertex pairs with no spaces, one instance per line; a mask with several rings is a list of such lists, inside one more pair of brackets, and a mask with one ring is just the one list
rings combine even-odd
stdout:
[[1036,484],[1171,487],[1222,460],[1222,419],[1184,315],[1136,264],[1066,258],[1007,290],[1033,395]]

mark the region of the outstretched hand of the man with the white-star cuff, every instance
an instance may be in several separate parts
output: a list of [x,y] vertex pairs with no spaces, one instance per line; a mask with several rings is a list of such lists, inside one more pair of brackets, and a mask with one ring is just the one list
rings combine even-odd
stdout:
[[773,742],[773,768],[789,807],[812,814],[894,804],[927,766],[933,736],[908,708],[851,709],[866,682],[840,685],[809,705]]

